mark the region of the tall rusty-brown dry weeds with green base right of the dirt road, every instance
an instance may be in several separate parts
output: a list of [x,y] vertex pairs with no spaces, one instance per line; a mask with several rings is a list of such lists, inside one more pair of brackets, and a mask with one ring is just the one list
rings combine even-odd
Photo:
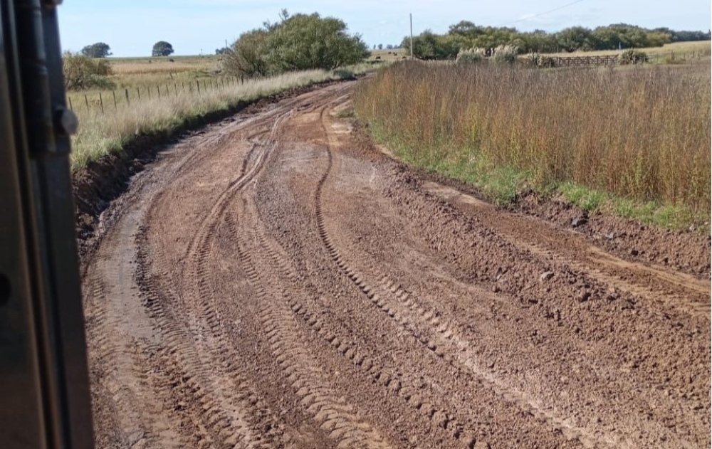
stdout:
[[392,65],[362,83],[361,120],[410,162],[511,167],[636,201],[710,210],[706,65],[536,70]]

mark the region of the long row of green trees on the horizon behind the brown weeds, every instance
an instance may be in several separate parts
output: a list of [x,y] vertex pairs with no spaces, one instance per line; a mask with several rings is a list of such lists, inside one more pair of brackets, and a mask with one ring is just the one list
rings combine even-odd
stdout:
[[[426,30],[414,36],[413,54],[421,59],[452,59],[461,48],[515,46],[519,53],[559,53],[660,47],[666,43],[707,41],[710,38],[710,32],[649,29],[627,23],[594,29],[572,26],[548,33],[543,30],[520,32],[516,28],[481,26],[471,21],[460,21],[451,25],[445,34]],[[409,36],[403,38],[401,46],[409,48]]]

